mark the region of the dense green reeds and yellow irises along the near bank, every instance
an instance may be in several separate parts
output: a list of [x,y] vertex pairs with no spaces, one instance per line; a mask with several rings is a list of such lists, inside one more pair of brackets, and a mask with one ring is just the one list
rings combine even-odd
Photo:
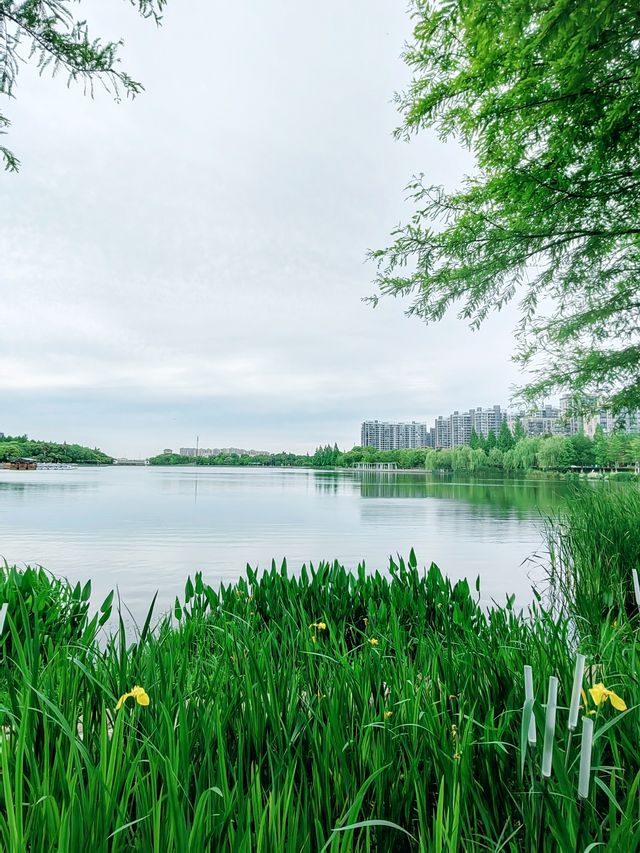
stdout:
[[[486,610],[466,581],[419,569],[412,553],[382,574],[283,565],[247,569],[219,590],[196,575],[171,614],[153,627],[150,610],[132,634],[113,596],[93,613],[89,585],[6,569],[0,846],[636,849],[633,494],[575,502],[556,528],[556,595],[524,614],[511,598]],[[592,587],[584,573],[605,545]],[[563,594],[571,589],[580,597]],[[114,616],[114,633],[102,635]],[[586,665],[573,731],[577,653]],[[594,736],[580,797],[583,719]]]

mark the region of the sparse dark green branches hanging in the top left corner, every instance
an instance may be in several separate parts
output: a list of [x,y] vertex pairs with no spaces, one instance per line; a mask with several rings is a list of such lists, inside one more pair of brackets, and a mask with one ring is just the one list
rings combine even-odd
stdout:
[[[145,18],[160,22],[166,0],[129,0]],[[93,94],[96,83],[119,96],[137,95],[143,88],[120,68],[122,42],[91,38],[86,21],[73,11],[73,0],[0,0],[0,95],[15,97],[21,63],[33,60],[43,74],[62,73],[67,84],[81,80]],[[0,110],[0,134],[6,133],[8,118]],[[0,145],[0,162],[17,171],[20,161]]]

